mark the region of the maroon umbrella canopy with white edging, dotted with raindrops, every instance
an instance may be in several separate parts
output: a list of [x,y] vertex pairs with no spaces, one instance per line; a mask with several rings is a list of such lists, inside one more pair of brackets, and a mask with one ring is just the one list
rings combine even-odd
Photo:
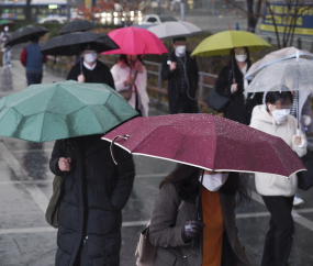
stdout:
[[212,114],[133,119],[102,138],[132,154],[216,171],[267,173],[283,177],[305,169],[280,137]]

